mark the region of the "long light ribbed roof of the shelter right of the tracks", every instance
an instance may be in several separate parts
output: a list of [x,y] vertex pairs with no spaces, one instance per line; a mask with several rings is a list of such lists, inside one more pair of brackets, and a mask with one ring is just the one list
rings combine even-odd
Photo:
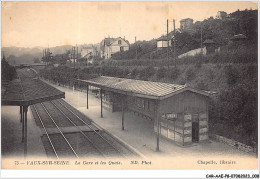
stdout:
[[83,83],[85,82],[97,87],[103,87],[118,93],[151,99],[165,99],[186,90],[209,96],[209,93],[207,92],[191,89],[185,85],[176,85],[170,83],[133,80],[108,76],[100,76],[90,80],[78,79],[78,81]]

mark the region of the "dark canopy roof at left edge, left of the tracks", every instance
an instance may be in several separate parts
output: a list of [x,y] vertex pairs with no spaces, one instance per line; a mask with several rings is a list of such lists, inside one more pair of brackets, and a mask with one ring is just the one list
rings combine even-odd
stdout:
[[32,105],[48,100],[65,98],[65,93],[32,78],[31,74],[24,73],[24,69],[18,70],[20,79],[15,79],[6,86],[2,94],[3,105]]

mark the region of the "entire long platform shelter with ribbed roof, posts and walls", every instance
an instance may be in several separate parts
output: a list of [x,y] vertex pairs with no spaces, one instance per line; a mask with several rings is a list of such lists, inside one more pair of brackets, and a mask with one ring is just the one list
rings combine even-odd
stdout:
[[89,86],[100,89],[101,117],[103,107],[111,112],[122,111],[123,130],[126,110],[152,120],[158,136],[157,150],[159,137],[182,146],[208,140],[208,91],[185,85],[107,76],[78,82],[87,85],[87,89]]

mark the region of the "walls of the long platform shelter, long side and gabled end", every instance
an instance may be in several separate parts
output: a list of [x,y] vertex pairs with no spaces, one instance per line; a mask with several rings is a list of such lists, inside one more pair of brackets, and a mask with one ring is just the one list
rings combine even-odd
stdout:
[[[106,92],[103,98],[104,107],[110,111],[121,110],[120,94]],[[187,145],[194,141],[194,123],[197,124],[196,134],[198,142],[208,139],[208,101],[207,97],[185,91],[174,95],[159,103],[160,129],[159,133],[180,145]],[[154,131],[157,133],[157,121],[155,120],[155,101],[140,97],[126,96],[127,110],[138,115],[154,120]],[[169,119],[165,115],[172,114]]]

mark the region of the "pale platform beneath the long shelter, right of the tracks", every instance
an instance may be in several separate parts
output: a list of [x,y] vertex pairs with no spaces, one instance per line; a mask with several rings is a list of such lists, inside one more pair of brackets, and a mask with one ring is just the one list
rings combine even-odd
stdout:
[[96,98],[91,92],[89,93],[89,109],[87,109],[85,92],[58,85],[53,86],[65,92],[66,102],[144,157],[169,158],[181,154],[181,156],[191,157],[237,156],[255,158],[254,153],[246,153],[216,141],[209,140],[208,142],[194,143],[191,146],[183,147],[163,137],[160,137],[160,151],[156,152],[156,134],[153,130],[153,121],[128,111],[125,114],[125,130],[122,130],[121,112],[112,113],[103,109],[103,118],[101,118],[100,99]]

